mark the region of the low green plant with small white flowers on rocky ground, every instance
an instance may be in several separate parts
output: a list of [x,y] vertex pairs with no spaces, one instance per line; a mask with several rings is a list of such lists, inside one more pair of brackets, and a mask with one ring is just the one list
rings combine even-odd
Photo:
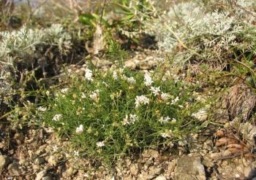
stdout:
[[165,146],[200,128],[192,87],[162,73],[86,69],[38,108],[42,123],[72,140],[80,154],[113,163],[124,154]]

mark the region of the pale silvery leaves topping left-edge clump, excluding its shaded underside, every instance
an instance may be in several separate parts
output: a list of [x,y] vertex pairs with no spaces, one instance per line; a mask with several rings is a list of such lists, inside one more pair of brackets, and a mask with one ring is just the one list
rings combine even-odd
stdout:
[[45,29],[23,26],[18,31],[0,32],[1,87],[10,86],[10,77],[15,76],[18,66],[29,70],[40,64],[45,49],[52,47],[59,55],[67,55],[71,46],[71,36],[59,24]]

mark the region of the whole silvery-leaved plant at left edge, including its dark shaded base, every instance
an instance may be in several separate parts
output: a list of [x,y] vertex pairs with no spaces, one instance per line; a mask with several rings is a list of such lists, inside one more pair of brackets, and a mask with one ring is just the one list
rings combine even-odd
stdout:
[[[59,24],[0,32],[0,106],[23,104],[23,93],[39,89],[38,80],[59,74],[71,54],[72,37]],[[31,100],[31,99],[29,99]],[[33,100],[34,101],[34,100]],[[7,109],[1,108],[0,114]]]

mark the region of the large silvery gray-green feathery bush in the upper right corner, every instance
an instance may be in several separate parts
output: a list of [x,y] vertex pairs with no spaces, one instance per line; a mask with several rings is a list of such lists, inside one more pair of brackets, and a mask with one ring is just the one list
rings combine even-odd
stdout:
[[157,35],[159,47],[173,53],[176,63],[192,58],[223,63],[237,50],[255,53],[255,3],[216,3],[175,4],[154,21],[151,29]]

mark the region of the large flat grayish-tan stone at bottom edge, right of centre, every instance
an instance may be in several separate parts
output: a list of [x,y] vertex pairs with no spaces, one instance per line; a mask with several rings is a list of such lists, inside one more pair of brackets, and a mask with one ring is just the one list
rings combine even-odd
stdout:
[[206,180],[206,172],[201,164],[200,157],[183,156],[177,160],[174,171],[176,180]]

